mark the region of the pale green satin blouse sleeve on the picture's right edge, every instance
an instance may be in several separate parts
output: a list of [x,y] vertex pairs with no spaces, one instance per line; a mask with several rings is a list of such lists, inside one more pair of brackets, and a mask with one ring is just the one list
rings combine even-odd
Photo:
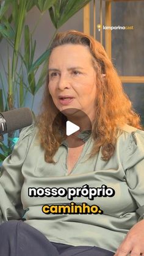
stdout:
[[130,134],[124,162],[128,189],[137,203],[140,221],[144,219],[144,131]]

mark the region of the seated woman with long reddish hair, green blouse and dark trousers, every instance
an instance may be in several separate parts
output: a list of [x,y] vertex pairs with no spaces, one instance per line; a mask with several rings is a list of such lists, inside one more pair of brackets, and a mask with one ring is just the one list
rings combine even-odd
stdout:
[[[80,127],[71,136],[68,120]],[[2,166],[0,255],[144,255],[143,142],[103,46],[58,33],[37,125]],[[84,203],[95,213],[57,211]]]

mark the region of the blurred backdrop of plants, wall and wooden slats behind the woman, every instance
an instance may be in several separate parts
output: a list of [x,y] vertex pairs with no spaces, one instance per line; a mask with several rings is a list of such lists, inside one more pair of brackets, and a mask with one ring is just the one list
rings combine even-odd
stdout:
[[[144,125],[144,1],[1,0],[0,4],[0,112],[26,106],[38,114],[51,40],[57,31],[75,29],[93,35],[111,51],[118,75],[127,78],[122,79],[124,91]],[[133,29],[106,31],[103,26],[109,18],[111,26]],[[1,159],[9,155],[8,148],[3,145]]]

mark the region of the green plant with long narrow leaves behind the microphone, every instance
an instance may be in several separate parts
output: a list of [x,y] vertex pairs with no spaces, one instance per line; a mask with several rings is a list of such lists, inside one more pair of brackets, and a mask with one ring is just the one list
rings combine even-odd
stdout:
[[[57,30],[91,0],[1,0],[0,1],[0,42],[7,41],[7,66],[0,59],[0,112],[21,108],[26,104],[27,93],[32,95],[33,108],[35,95],[45,82],[46,63],[49,46]],[[29,11],[37,6],[42,16],[48,11],[54,25],[54,35],[45,51],[35,59],[37,42],[34,31],[25,24]],[[22,50],[22,38],[24,49]],[[38,78],[36,79],[36,75]],[[4,77],[5,75],[5,77]],[[7,85],[5,86],[5,82]],[[0,143],[0,161],[10,154],[16,142],[15,134],[8,135],[8,145]]]

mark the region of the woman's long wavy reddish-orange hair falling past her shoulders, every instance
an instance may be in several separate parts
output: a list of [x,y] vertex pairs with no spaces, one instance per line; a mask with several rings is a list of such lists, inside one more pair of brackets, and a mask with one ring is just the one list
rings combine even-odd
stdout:
[[[92,126],[92,137],[95,143],[93,143],[90,157],[94,156],[101,147],[102,159],[107,161],[115,150],[120,127],[128,124],[142,130],[140,117],[132,109],[132,103],[124,93],[117,71],[101,43],[82,32],[69,30],[57,33],[52,41],[50,51],[57,46],[70,43],[87,46],[92,54],[92,65],[96,71],[97,97],[95,99],[95,121]],[[102,74],[106,74],[106,76],[103,77]],[[46,79],[42,111],[38,115],[37,126],[40,144],[45,150],[45,161],[54,163],[53,157],[63,141],[63,136],[59,131],[64,125],[66,117],[61,114],[59,121],[52,127],[54,118],[59,111],[52,101],[48,84],[49,76]]]

